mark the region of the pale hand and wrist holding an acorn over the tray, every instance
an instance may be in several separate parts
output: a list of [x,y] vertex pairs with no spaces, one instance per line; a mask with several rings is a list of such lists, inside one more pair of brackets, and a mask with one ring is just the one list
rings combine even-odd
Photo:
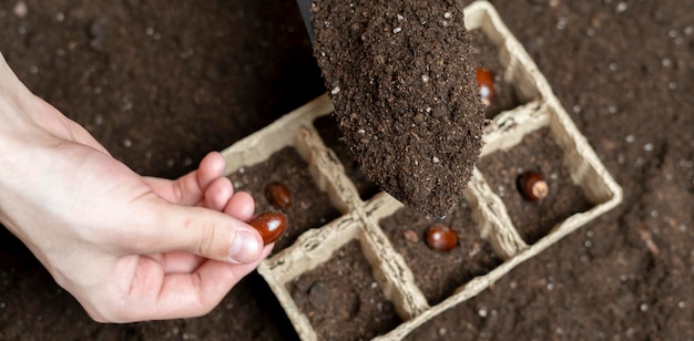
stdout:
[[100,322],[202,316],[271,251],[208,154],[143,177],[33,95],[0,54],[0,223]]

